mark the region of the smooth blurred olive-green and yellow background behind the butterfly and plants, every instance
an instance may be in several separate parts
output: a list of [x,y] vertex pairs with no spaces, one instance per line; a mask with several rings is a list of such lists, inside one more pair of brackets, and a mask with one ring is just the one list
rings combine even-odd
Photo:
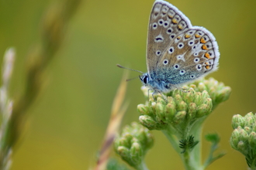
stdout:
[[[50,0],[0,1],[0,56],[9,46],[17,56],[10,95],[24,88],[26,56],[40,42],[41,18]],[[244,156],[230,148],[231,117],[256,112],[256,1],[171,0],[194,26],[213,32],[220,46],[220,69],[211,73],[233,90],[230,100],[206,120],[203,134],[220,134],[227,155],[213,169],[247,169]],[[61,3],[61,1],[59,1]],[[26,129],[13,152],[12,169],[88,169],[95,162],[123,74],[116,63],[146,71],[150,1],[88,0],[74,14],[63,46],[47,67],[47,87],[29,108]],[[2,63],[2,59],[0,59]],[[130,77],[137,76],[130,73]],[[124,124],[137,121],[144,103],[140,80],[128,83],[130,107]],[[146,157],[150,169],[184,169],[179,155],[159,131]],[[203,144],[203,158],[209,145]],[[220,151],[221,151],[220,150]],[[113,154],[114,155],[114,154]]]

